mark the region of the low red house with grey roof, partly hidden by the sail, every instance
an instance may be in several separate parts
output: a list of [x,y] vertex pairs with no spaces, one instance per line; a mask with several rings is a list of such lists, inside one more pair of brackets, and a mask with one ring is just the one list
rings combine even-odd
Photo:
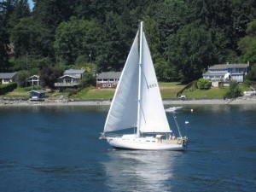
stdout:
[[119,83],[121,72],[103,72],[96,78],[97,88],[116,87]]

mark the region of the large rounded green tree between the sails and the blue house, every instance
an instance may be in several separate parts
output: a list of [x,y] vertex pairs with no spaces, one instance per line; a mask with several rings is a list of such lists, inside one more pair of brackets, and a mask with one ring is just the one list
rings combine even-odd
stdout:
[[193,25],[180,28],[168,39],[168,58],[183,73],[183,82],[201,78],[207,66],[214,61],[211,34]]

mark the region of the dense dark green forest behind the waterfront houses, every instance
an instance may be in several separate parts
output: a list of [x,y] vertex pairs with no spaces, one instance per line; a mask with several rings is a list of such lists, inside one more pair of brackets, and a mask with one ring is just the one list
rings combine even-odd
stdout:
[[31,10],[27,0],[0,1],[0,72],[50,80],[67,68],[120,71],[140,20],[160,81],[199,79],[218,63],[256,63],[255,0],[33,3]]

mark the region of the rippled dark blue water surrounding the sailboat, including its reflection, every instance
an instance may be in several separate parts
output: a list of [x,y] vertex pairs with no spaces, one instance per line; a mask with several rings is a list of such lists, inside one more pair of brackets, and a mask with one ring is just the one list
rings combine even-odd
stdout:
[[184,106],[185,152],[113,150],[108,108],[0,107],[0,191],[256,190],[256,106]]

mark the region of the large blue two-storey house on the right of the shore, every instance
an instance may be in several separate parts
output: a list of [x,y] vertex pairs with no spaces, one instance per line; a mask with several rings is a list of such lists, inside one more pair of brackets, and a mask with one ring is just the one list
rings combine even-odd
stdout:
[[213,87],[218,87],[220,84],[224,86],[230,85],[230,80],[236,80],[242,83],[244,75],[248,73],[249,63],[247,64],[218,64],[208,67],[207,73],[203,73],[204,79],[212,82]]

